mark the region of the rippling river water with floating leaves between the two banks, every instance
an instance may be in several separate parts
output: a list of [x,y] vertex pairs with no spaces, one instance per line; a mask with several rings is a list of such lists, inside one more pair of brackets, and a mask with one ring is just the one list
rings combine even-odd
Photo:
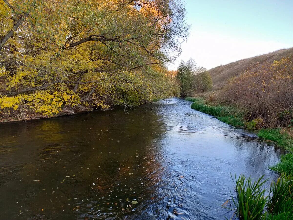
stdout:
[[229,219],[230,174],[282,149],[172,98],[0,125],[0,219]]

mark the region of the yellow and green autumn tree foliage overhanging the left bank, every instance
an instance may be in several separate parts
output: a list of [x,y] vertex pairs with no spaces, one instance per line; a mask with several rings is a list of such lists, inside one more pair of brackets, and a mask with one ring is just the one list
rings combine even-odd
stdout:
[[188,26],[180,0],[1,0],[0,114],[53,115],[178,94],[164,63]]

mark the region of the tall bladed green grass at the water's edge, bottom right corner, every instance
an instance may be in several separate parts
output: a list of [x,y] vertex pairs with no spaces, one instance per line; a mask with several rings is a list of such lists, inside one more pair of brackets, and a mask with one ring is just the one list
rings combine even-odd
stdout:
[[241,220],[293,219],[292,177],[282,175],[273,181],[268,196],[265,196],[268,190],[264,187],[268,179],[263,180],[263,177],[254,182],[244,175],[232,177],[237,193],[237,199],[231,195],[236,217]]

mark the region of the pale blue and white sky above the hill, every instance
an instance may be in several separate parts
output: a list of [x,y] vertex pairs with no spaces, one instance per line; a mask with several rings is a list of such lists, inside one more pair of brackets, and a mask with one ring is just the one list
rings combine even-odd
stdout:
[[180,60],[207,69],[293,47],[293,0],[185,0],[190,36]]

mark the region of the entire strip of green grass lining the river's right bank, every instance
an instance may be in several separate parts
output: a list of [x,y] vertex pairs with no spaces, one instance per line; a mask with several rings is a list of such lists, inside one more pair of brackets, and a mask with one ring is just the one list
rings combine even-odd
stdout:
[[[220,121],[237,127],[255,128],[257,121],[246,121],[245,110],[234,106],[207,104],[202,98],[186,98],[193,101],[191,108],[215,116]],[[237,200],[233,201],[233,210],[239,219],[293,219],[293,138],[282,128],[261,128],[256,130],[258,137],[272,141],[290,153],[283,155],[281,161],[269,167],[280,174],[270,189],[264,189],[263,177],[255,182],[251,178],[235,176]],[[265,195],[268,191],[268,196]]]

